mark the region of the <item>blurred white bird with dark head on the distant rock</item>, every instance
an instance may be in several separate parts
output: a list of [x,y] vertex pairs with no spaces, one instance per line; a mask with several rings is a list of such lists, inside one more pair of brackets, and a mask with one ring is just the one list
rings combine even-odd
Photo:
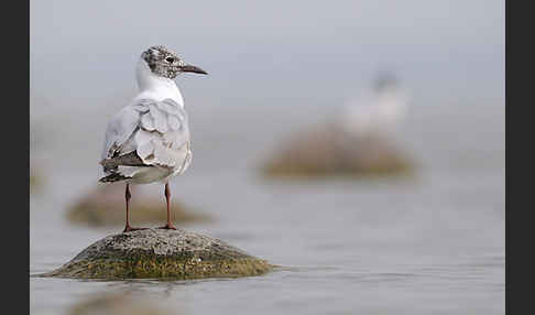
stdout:
[[375,79],[371,94],[345,105],[339,127],[357,138],[390,134],[405,117],[407,101],[408,97],[397,79],[382,74]]

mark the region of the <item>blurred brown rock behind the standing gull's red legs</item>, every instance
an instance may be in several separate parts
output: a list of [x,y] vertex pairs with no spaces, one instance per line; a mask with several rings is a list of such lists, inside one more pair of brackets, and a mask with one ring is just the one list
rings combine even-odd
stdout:
[[[142,224],[164,225],[167,219],[166,203],[161,195],[149,194],[141,185],[130,185],[130,221],[134,226]],[[172,192],[173,194],[173,192]],[[178,200],[172,200],[172,219],[175,224],[206,221],[210,218],[196,210],[186,208]],[[67,209],[67,218],[74,224],[88,226],[124,225],[125,202],[124,184],[97,184]]]

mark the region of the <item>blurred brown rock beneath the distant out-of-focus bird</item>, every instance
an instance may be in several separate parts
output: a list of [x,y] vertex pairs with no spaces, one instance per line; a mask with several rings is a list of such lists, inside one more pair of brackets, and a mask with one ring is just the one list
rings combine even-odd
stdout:
[[269,177],[405,175],[413,162],[384,137],[353,137],[321,126],[283,143],[262,165]]

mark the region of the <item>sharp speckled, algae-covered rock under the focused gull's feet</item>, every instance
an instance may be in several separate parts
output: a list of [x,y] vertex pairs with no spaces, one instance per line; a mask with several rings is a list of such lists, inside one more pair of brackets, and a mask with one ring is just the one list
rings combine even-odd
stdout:
[[146,229],[108,236],[42,276],[187,280],[259,275],[270,269],[265,260],[218,239]]

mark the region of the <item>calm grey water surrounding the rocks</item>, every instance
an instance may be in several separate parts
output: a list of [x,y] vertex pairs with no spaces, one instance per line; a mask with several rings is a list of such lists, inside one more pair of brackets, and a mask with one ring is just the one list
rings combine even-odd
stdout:
[[[65,220],[66,207],[98,180],[103,127],[117,108],[70,109],[36,124],[32,165],[47,186],[31,197],[31,274],[122,229]],[[331,109],[188,108],[194,163],[172,183],[173,195],[216,221],[185,228],[285,268],[188,282],[31,278],[32,314],[65,314],[95,293],[119,291],[157,298],[177,314],[504,314],[503,105],[416,101],[400,135],[421,164],[411,180],[256,176],[255,165],[286,132]]]

